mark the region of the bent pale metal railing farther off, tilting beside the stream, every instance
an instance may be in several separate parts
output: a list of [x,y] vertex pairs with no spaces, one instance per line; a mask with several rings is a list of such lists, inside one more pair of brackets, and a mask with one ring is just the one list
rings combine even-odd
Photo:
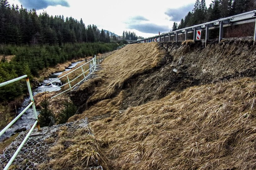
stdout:
[[[86,70],[86,71],[84,71],[83,66],[86,65],[86,64],[89,64],[89,69]],[[70,75],[71,73],[73,73],[74,71],[76,71],[76,70],[78,70],[78,69],[81,69],[82,74],[78,75],[76,78],[74,78],[73,80],[70,81],[69,78],[68,78],[68,75]],[[81,83],[82,81],[86,80],[86,78],[89,77],[89,76],[95,71],[95,69],[96,69],[96,55],[94,55],[94,58],[91,59],[90,61],[86,62],[85,64],[83,64],[83,65],[79,66],[78,68],[76,68],[76,69],[70,71],[69,73],[67,73],[67,74],[65,74],[65,75],[63,75],[63,76],[61,76],[61,77],[59,77],[58,79],[56,79],[56,80],[54,80],[54,81],[48,83],[48,84],[51,84],[51,83],[53,83],[53,82],[56,82],[57,80],[60,80],[60,79],[63,78],[63,77],[67,77],[67,80],[68,80],[67,83],[65,83],[65,84],[63,84],[63,85],[61,85],[61,86],[59,86],[59,87],[53,89],[52,91],[55,91],[55,90],[57,90],[57,89],[59,89],[59,88],[65,86],[65,85],[69,85],[69,88],[68,88],[67,90],[64,90],[64,91],[62,91],[61,93],[59,93],[59,94],[57,94],[57,95],[51,97],[51,99],[54,98],[54,97],[56,97],[56,96],[58,96],[58,95],[60,95],[60,94],[62,94],[62,93],[65,93],[65,92],[68,91],[68,90],[72,90],[72,89],[73,89],[74,87],[76,87],[79,83]],[[89,71],[89,74],[85,75],[85,73],[87,73],[88,71]],[[82,75],[84,76],[84,78],[83,78],[82,80],[80,80],[78,83],[76,83],[75,85],[71,86],[70,83],[73,82],[74,80],[78,79],[78,78],[79,78],[80,76],[82,76]],[[50,92],[52,92],[52,91],[50,91]]]

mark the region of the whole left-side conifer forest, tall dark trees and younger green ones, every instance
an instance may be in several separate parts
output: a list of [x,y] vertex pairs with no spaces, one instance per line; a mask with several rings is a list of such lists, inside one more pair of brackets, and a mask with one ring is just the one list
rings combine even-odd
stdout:
[[[0,0],[0,16],[0,83],[25,74],[31,80],[43,68],[112,51],[119,43],[109,32],[94,24],[86,26],[82,19],[37,14],[7,0]],[[9,62],[8,55],[14,56]],[[26,90],[19,83],[2,87],[0,101],[12,100]]]

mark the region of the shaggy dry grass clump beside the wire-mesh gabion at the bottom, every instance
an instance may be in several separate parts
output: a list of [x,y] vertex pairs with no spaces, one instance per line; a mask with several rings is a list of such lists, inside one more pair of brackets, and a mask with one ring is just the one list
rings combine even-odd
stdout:
[[[99,148],[99,141],[93,135],[85,133],[89,129],[77,129],[73,134],[74,137],[71,137],[72,134],[67,135],[68,128],[60,130],[57,144],[50,148],[48,156],[51,160],[47,168],[69,170],[101,165],[104,169],[108,169]],[[40,165],[42,166],[44,165]]]

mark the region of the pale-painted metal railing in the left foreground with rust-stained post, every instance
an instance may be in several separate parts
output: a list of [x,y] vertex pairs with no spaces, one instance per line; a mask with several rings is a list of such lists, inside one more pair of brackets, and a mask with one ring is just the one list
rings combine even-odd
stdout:
[[4,132],[14,124],[15,121],[17,121],[20,116],[22,116],[25,111],[27,111],[30,106],[32,106],[33,108],[33,113],[34,113],[34,116],[35,116],[35,123],[34,125],[31,127],[29,133],[26,135],[26,137],[24,138],[24,140],[22,141],[22,143],[19,145],[18,149],[16,150],[16,152],[14,153],[14,155],[11,157],[10,161],[7,163],[7,165],[5,166],[4,170],[7,170],[10,165],[12,164],[12,162],[14,161],[15,157],[18,155],[20,149],[23,147],[24,143],[27,141],[28,137],[30,136],[30,134],[32,133],[32,131],[34,130],[35,126],[37,126],[38,128],[38,131],[40,131],[40,125],[39,125],[39,121],[38,121],[38,118],[37,118],[37,114],[36,114],[36,110],[35,110],[35,102],[34,102],[34,99],[33,99],[33,95],[32,95],[32,91],[31,91],[31,87],[30,87],[30,83],[29,83],[29,78],[27,75],[23,75],[21,77],[18,77],[16,79],[13,79],[13,80],[9,80],[9,81],[6,81],[6,82],[3,82],[0,84],[0,87],[2,86],[5,86],[5,85],[8,85],[8,84],[11,84],[11,83],[14,83],[15,81],[19,81],[21,79],[24,79],[26,78],[26,82],[27,82],[27,86],[28,86],[28,90],[29,90],[29,95],[30,95],[30,104],[18,115],[14,118],[13,121],[11,121],[1,132],[0,132],[0,137],[4,134]]

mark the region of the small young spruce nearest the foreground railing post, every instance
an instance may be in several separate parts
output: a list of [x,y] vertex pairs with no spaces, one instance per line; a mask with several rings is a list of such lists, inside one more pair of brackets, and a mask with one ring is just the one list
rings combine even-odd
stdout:
[[46,93],[43,100],[40,103],[41,110],[39,111],[39,123],[41,127],[49,126],[51,122],[51,117],[53,117],[53,111],[50,108],[50,100],[46,97]]

